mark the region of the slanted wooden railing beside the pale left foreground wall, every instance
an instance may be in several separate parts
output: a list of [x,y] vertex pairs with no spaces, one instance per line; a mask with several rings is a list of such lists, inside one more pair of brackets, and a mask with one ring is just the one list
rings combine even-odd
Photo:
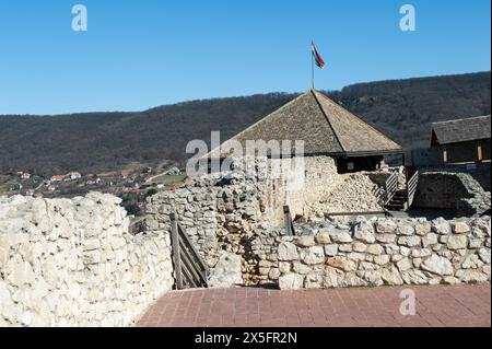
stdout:
[[207,287],[208,268],[176,213],[171,213],[171,242],[177,290]]

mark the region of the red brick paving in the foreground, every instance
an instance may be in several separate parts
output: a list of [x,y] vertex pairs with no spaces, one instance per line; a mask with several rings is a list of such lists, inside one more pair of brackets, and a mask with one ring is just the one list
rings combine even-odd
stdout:
[[[415,315],[399,312],[415,292]],[[172,291],[137,326],[491,326],[485,284],[280,291],[260,288]]]

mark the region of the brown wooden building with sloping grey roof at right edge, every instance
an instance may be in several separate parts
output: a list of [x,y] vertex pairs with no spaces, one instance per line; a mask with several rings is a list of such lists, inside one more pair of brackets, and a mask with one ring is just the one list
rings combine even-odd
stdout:
[[490,164],[490,115],[434,123],[431,148],[446,165]]

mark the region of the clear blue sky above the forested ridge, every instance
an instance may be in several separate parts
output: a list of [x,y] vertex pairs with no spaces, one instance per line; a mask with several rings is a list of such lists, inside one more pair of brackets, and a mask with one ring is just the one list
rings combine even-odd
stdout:
[[[83,3],[89,31],[71,30]],[[399,30],[412,3],[417,32]],[[139,110],[490,70],[490,0],[2,0],[0,114]]]

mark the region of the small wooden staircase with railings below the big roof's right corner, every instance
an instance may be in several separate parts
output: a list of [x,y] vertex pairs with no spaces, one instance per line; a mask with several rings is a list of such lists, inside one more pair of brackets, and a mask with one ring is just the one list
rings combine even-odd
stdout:
[[413,202],[419,185],[419,171],[415,167],[406,167],[407,186],[398,189],[398,173],[394,172],[386,181],[385,208],[389,211],[407,211]]

